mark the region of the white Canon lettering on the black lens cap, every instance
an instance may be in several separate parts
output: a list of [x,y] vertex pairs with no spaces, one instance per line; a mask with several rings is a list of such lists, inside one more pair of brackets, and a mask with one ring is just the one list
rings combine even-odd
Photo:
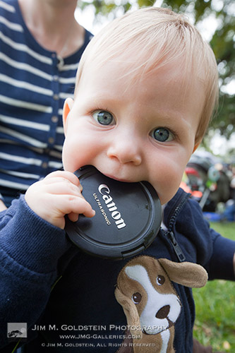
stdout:
[[102,194],[102,199],[107,205],[107,208],[111,213],[112,218],[115,220],[116,227],[118,229],[126,227],[126,223],[121,218],[121,213],[116,208],[116,204],[110,196],[109,186],[107,186],[106,184],[100,184],[98,190]]

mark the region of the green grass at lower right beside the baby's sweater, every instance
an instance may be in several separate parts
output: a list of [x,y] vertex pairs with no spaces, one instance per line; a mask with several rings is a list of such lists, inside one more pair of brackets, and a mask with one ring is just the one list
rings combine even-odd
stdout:
[[[211,227],[235,240],[235,222],[214,223]],[[214,280],[193,289],[196,319],[194,337],[213,352],[235,352],[235,282]]]

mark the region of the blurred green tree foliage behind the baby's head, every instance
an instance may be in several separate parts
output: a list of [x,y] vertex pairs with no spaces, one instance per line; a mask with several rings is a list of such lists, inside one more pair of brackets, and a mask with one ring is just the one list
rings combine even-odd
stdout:
[[[228,92],[227,85],[235,82],[235,4],[234,0],[80,0],[80,8],[95,7],[95,20],[102,16],[112,20],[131,8],[143,6],[168,7],[176,12],[183,12],[202,32],[203,23],[213,23],[207,29],[210,37],[206,38],[215,52],[219,71],[220,104],[219,111],[210,126],[219,129],[229,138],[235,131],[235,95]],[[234,83],[235,85],[235,83]],[[229,94],[230,93],[230,94]]]

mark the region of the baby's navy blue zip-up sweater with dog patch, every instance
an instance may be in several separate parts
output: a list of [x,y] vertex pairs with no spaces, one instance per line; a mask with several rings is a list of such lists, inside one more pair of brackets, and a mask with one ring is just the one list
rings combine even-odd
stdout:
[[[157,285],[163,288],[166,278],[158,276],[156,285],[152,282],[151,268],[150,275],[146,275],[144,265],[131,268],[128,261],[140,258],[141,264],[143,259],[157,263],[156,259],[167,258],[178,263],[177,253],[181,254],[175,251],[170,234],[174,235],[173,242],[177,241],[185,260],[202,265],[210,279],[234,280],[235,242],[210,229],[198,203],[188,199],[181,189],[164,208],[168,231],[161,230],[140,256],[123,261],[83,253],[71,244],[63,230],[35,215],[23,196],[0,215],[0,352],[3,353],[12,352],[16,345],[8,340],[7,323],[28,324],[23,352],[116,352],[120,347],[119,352],[131,352],[127,349],[133,349],[133,343],[124,340],[129,329],[126,316],[114,296],[117,278],[127,266],[124,287],[126,290],[128,286],[138,287],[132,299],[138,311],[148,317],[144,307],[147,308],[151,296],[162,296],[155,288]],[[128,272],[130,268],[132,272]],[[140,280],[136,280],[141,273]],[[192,291],[176,282],[171,285],[168,297],[162,297],[169,298],[169,304],[164,305],[164,313],[159,310],[156,314],[168,326],[161,333],[146,337],[153,340],[152,345],[159,335],[166,345],[169,337],[173,337],[175,352],[189,353],[195,318]],[[141,305],[144,305],[140,310],[139,292],[143,287]],[[155,302],[152,300],[151,307]],[[172,313],[171,306],[175,306]],[[141,314],[141,325],[146,323],[145,318]],[[157,346],[154,349],[147,352],[167,352]]]

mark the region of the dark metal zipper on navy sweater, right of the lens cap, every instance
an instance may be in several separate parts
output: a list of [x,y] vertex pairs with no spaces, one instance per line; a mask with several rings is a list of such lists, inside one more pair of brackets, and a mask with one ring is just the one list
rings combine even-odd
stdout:
[[176,241],[176,237],[174,236],[174,232],[172,229],[176,223],[176,218],[178,217],[179,213],[181,212],[181,209],[185,205],[186,201],[188,201],[189,196],[190,196],[190,194],[188,194],[188,193],[183,196],[183,198],[181,199],[181,202],[176,207],[173,215],[170,218],[168,230],[164,232],[164,236],[167,237],[167,239],[170,241],[171,246],[174,249],[174,253],[176,254],[179,262],[185,261],[186,257],[184,256],[184,253],[181,250],[181,247],[179,246],[178,242]]

